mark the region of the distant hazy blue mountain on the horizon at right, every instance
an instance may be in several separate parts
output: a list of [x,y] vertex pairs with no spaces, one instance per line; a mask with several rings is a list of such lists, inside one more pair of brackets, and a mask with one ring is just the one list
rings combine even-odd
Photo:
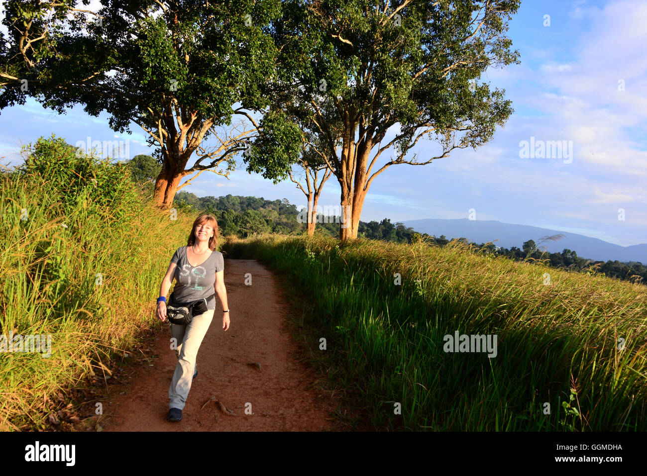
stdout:
[[[546,235],[562,233],[564,238],[558,241],[545,241],[545,246],[551,253],[560,253],[564,248],[573,250],[578,256],[593,259],[595,261],[640,261],[647,264],[647,243],[634,244],[632,246],[620,246],[619,244],[608,243],[597,238],[591,238],[577,233],[559,232],[548,230],[538,226],[515,225],[502,223],[494,220],[468,220],[466,218],[457,220],[424,219],[408,220],[401,222],[404,226],[413,228],[419,233],[429,235],[445,235],[446,239],[461,238],[473,241],[474,243],[487,243],[493,241],[496,246],[521,248],[524,241],[533,240],[539,243]],[[498,241],[494,241],[498,239]],[[543,248],[542,248],[543,249]]]

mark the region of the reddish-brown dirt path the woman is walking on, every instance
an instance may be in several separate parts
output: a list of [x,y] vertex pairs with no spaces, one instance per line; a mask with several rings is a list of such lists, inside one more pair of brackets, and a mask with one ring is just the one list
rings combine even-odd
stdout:
[[[245,285],[246,273],[252,274],[252,286]],[[331,405],[312,386],[314,373],[297,360],[298,347],[286,325],[289,303],[277,279],[258,261],[226,259],[231,327],[223,332],[222,308],[216,297],[214,320],[198,351],[199,374],[182,421],[166,420],[168,387],[177,359],[165,326],[153,346],[160,357],[151,361],[153,365],[141,365],[130,384],[115,385],[115,395],[104,403],[104,431],[338,429]],[[259,362],[261,369],[250,362]],[[214,400],[236,416],[223,413]],[[245,415],[248,403],[253,415]]]

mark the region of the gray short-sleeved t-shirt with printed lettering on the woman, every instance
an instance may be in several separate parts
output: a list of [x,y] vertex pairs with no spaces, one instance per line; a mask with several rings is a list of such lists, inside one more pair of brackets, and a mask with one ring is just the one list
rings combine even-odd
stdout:
[[204,263],[192,266],[186,259],[186,246],[181,246],[175,250],[171,263],[177,265],[175,270],[177,283],[173,288],[173,298],[179,303],[190,303],[206,298],[206,307],[215,309],[215,274],[225,269],[223,254],[213,251]]

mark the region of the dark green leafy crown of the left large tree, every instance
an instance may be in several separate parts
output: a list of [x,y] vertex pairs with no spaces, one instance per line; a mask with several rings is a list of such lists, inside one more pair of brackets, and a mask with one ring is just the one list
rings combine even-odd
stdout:
[[[14,3],[20,2],[8,2]],[[56,14],[72,14],[73,5],[58,3]],[[85,15],[74,14],[64,35],[48,39],[56,58],[39,63],[38,79],[44,81],[39,87],[47,92],[46,102],[59,108],[85,103],[86,111],[94,115],[105,110],[118,131],[127,130],[135,118],[155,129],[157,113],[171,98],[200,118],[224,122],[238,100],[260,105],[259,85],[274,69],[272,41],[261,27],[280,14],[280,2],[206,6],[195,0],[166,5],[168,14],[153,16],[155,8],[105,4],[97,11],[104,18],[100,24],[94,23],[94,16],[85,20]],[[251,25],[246,25],[247,14]],[[6,23],[17,17],[15,12]],[[114,67],[118,68],[114,76],[96,74]],[[56,91],[57,82],[68,89]],[[31,92],[30,88],[27,93]],[[147,107],[156,114],[142,112]]]

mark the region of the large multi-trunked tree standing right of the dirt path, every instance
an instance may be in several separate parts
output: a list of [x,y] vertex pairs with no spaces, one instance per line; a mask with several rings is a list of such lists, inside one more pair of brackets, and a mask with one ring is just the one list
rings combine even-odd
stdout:
[[[490,66],[518,62],[503,33],[519,4],[283,2],[283,16],[270,30],[283,69],[269,92],[272,107],[285,111],[288,121],[278,124],[276,134],[313,124],[312,132],[321,136],[327,149],[321,157],[342,189],[343,221],[349,225],[341,227],[342,241],[356,237],[364,198],[378,174],[395,164],[426,165],[454,149],[476,149],[492,138],[496,125],[505,124],[512,113],[505,91],[490,91],[477,80]],[[421,138],[435,142],[437,152],[408,158]],[[389,149],[393,157],[377,165]],[[247,160],[267,162],[272,154],[258,148]]]

